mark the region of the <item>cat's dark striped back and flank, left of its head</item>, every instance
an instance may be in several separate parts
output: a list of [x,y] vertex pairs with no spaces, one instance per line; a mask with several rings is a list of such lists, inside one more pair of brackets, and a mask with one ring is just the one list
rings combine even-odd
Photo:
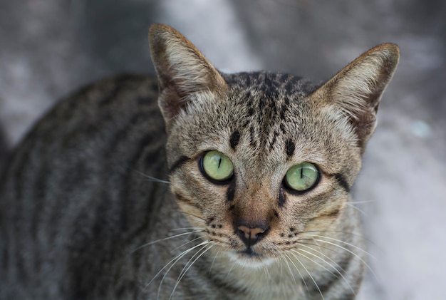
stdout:
[[143,175],[167,177],[164,143],[157,82],[147,76],[98,81],[40,120],[1,175],[0,298],[76,290],[82,299],[113,281],[128,285],[135,270],[113,258],[150,227],[156,203],[137,200],[165,195]]

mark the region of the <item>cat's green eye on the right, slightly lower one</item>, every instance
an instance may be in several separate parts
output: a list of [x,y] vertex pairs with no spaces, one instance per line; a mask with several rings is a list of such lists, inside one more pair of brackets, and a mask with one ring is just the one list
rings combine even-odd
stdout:
[[291,167],[286,172],[285,182],[290,189],[304,192],[316,184],[319,177],[318,173],[315,165],[309,162],[302,162],[299,165]]

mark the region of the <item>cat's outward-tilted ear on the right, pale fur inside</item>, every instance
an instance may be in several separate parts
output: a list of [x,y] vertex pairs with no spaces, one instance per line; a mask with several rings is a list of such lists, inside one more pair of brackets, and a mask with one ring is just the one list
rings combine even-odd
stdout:
[[313,94],[349,118],[362,149],[375,130],[380,98],[399,58],[400,51],[395,44],[376,46],[356,58]]

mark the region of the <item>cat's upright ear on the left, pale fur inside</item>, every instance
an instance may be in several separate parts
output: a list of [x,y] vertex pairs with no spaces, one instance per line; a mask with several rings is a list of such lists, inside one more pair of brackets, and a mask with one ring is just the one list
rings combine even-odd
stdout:
[[167,127],[187,106],[188,95],[202,90],[221,92],[227,88],[227,83],[202,53],[170,26],[150,26],[149,42],[160,88],[159,105]]

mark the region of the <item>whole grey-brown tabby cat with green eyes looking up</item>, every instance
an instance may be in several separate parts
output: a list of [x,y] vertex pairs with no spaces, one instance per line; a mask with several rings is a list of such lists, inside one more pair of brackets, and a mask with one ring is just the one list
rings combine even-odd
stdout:
[[217,71],[169,26],[157,73],[93,83],[0,181],[0,299],[354,299],[349,191],[398,46],[324,83]]

